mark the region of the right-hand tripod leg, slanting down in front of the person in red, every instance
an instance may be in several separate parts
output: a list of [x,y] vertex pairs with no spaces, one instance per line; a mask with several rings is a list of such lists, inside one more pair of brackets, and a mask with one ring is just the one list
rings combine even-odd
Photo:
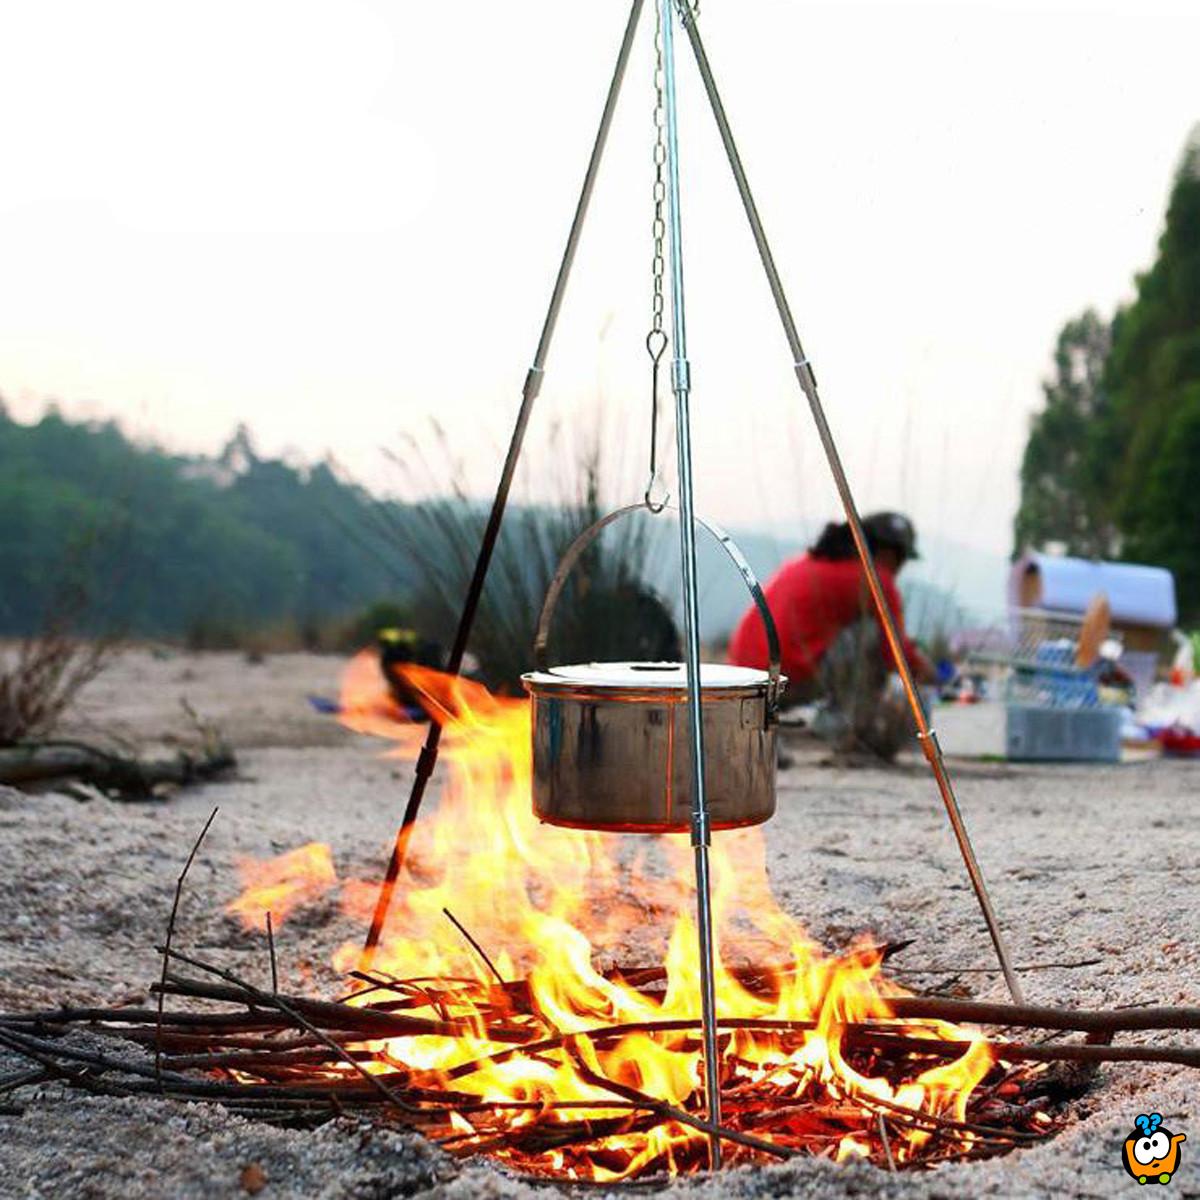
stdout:
[[874,601],[875,608],[878,613],[880,624],[883,628],[883,635],[888,640],[888,646],[890,647],[892,655],[895,659],[896,671],[900,673],[900,680],[904,684],[905,695],[907,696],[908,706],[912,709],[912,716],[917,725],[917,737],[920,742],[922,751],[929,762],[934,778],[937,781],[938,791],[942,794],[942,803],[946,805],[946,814],[949,817],[950,828],[954,830],[954,836],[959,844],[959,851],[962,854],[962,862],[966,864],[967,875],[971,878],[971,886],[974,889],[976,899],[979,901],[979,907],[983,911],[983,918],[988,925],[988,932],[991,935],[992,946],[996,948],[996,956],[998,958],[1001,970],[1004,973],[1004,980],[1008,984],[1008,990],[1012,994],[1013,1000],[1020,1004],[1024,1002],[1021,996],[1021,985],[1016,979],[1016,973],[1009,960],[1004,935],[1001,932],[996,913],[991,907],[991,899],[988,895],[988,886],[984,882],[983,871],[979,869],[974,848],[971,845],[971,838],[967,833],[966,824],[962,821],[962,812],[960,811],[959,802],[954,796],[954,787],[950,784],[950,776],[947,773],[946,762],[942,758],[942,749],[937,743],[937,734],[932,728],[930,728],[929,720],[925,716],[925,708],[920,702],[920,695],[917,691],[917,684],[912,676],[912,670],[910,668],[908,661],[904,655],[904,647],[900,642],[896,623],[892,616],[890,608],[888,607],[887,598],[883,595],[880,576],[875,569],[875,562],[871,558],[871,552],[866,545],[866,538],[863,534],[863,524],[859,521],[858,508],[854,504],[854,497],[851,493],[850,482],[846,479],[846,472],[841,464],[841,456],[838,454],[838,446],[834,444],[833,434],[829,431],[829,422],[826,420],[824,407],[817,395],[816,376],[812,373],[812,367],[804,355],[804,348],[800,346],[800,336],[797,332],[796,322],[792,318],[792,311],[787,304],[787,296],[784,293],[784,284],[780,281],[779,271],[775,268],[775,259],[770,252],[770,246],[767,242],[767,234],[763,229],[762,220],[758,216],[758,209],[754,202],[754,194],[750,191],[750,184],[746,180],[745,169],[742,166],[742,156],[738,154],[737,144],[733,140],[733,132],[730,128],[728,118],[725,114],[725,106],[721,103],[720,94],[716,90],[716,82],[713,79],[713,71],[708,62],[708,55],[704,53],[704,43],[701,41],[700,30],[696,28],[696,22],[686,5],[680,5],[680,19],[683,20],[684,29],[686,30],[688,40],[691,42],[692,53],[696,56],[696,65],[700,67],[700,74],[704,83],[704,91],[708,94],[708,101],[713,108],[713,116],[716,119],[716,127],[720,131],[721,142],[725,145],[725,154],[728,157],[730,168],[733,172],[733,179],[737,182],[738,192],[742,196],[742,204],[745,208],[746,218],[750,222],[750,229],[754,234],[755,244],[758,247],[758,256],[762,259],[763,269],[767,272],[767,282],[770,284],[770,294],[775,299],[775,307],[779,310],[779,318],[784,325],[784,334],[786,335],[787,344],[792,350],[792,362],[796,368],[796,377],[799,380],[800,389],[808,398],[809,409],[812,413],[812,420],[817,427],[817,436],[821,439],[826,458],[829,462],[829,469],[833,473],[834,484],[838,487],[838,494],[841,498],[841,504],[846,512],[846,521],[850,524],[854,545],[858,548],[858,556],[862,559],[863,569],[866,572],[866,583],[871,592],[871,600]]

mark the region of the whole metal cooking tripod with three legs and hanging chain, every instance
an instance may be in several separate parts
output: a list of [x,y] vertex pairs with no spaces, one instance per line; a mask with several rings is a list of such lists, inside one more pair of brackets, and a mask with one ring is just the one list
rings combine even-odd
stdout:
[[[719,1124],[721,1120],[720,1064],[716,1048],[716,1001],[713,982],[714,947],[708,864],[712,828],[708,802],[704,791],[704,748],[700,694],[700,602],[696,587],[696,536],[695,512],[692,509],[691,474],[691,368],[688,362],[688,332],[683,288],[683,230],[679,211],[679,131],[676,103],[674,68],[674,30],[677,24],[686,34],[688,41],[691,44],[692,54],[696,59],[696,65],[700,68],[700,76],[704,84],[704,91],[708,95],[708,101],[713,109],[713,116],[716,120],[716,126],[720,132],[721,142],[725,146],[730,168],[733,172],[733,178],[742,197],[742,204],[745,209],[746,220],[750,223],[755,244],[758,247],[758,256],[762,259],[763,270],[767,274],[767,282],[775,300],[775,307],[779,311],[779,319],[784,326],[784,335],[787,338],[787,344],[792,354],[796,378],[800,385],[800,390],[804,392],[805,400],[808,401],[809,410],[812,414],[812,420],[817,428],[817,437],[820,438],[821,445],[824,450],[826,460],[828,461],[829,470],[833,474],[834,484],[838,488],[838,494],[845,510],[846,521],[850,524],[850,530],[854,539],[854,546],[858,551],[858,557],[866,576],[871,600],[878,614],[884,637],[890,647],[893,659],[895,660],[896,670],[900,673],[900,680],[904,685],[905,696],[907,697],[908,706],[912,709],[913,721],[917,726],[918,742],[925,755],[925,760],[929,762],[930,769],[932,770],[934,779],[937,782],[942,803],[946,806],[946,814],[949,818],[950,827],[954,830],[954,836],[958,841],[959,851],[962,854],[962,860],[966,865],[971,886],[974,889],[976,899],[979,901],[984,922],[988,925],[988,932],[991,935],[992,946],[995,947],[996,956],[1000,960],[1000,966],[1003,971],[1004,980],[1008,984],[1008,990],[1012,992],[1013,1000],[1016,1003],[1022,1002],[1022,996],[1020,984],[1018,983],[1016,974],[1013,971],[1013,966],[1009,960],[1004,936],[1001,932],[1000,924],[996,920],[996,914],[991,906],[991,900],[988,895],[988,888],[984,883],[983,872],[979,869],[979,863],[976,859],[966,824],[962,821],[962,814],[959,809],[958,799],[954,794],[954,787],[946,769],[941,746],[937,742],[937,734],[929,724],[924,706],[920,701],[920,694],[917,690],[916,680],[913,679],[912,671],[904,655],[904,648],[901,646],[895,619],[893,618],[892,611],[889,610],[887,600],[883,595],[878,571],[875,569],[875,563],[871,558],[870,550],[866,545],[866,538],[863,533],[863,524],[859,520],[858,508],[854,503],[854,497],[851,493],[850,482],[846,479],[846,472],[842,468],[841,457],[838,454],[833,434],[829,431],[829,424],[826,420],[824,408],[817,392],[816,376],[812,371],[811,364],[804,354],[804,348],[800,344],[800,337],[796,329],[796,322],[792,318],[791,307],[788,306],[787,296],[784,293],[784,286],[780,281],[779,271],[775,268],[775,260],[770,252],[770,246],[767,241],[762,221],[758,217],[758,210],[755,205],[754,196],[750,191],[750,184],[746,180],[746,174],[742,166],[742,158],[738,154],[737,144],[733,140],[733,133],[730,128],[728,118],[725,113],[725,106],[721,102],[716,83],[713,78],[713,71],[708,61],[708,55],[704,50],[704,44],[700,36],[700,29],[696,20],[698,2],[695,6],[689,4],[689,0],[653,0],[653,2],[658,6],[656,52],[660,73],[656,76],[656,82],[659,86],[661,110],[665,118],[665,120],[660,122],[659,150],[655,155],[658,167],[658,181],[655,186],[655,234],[656,242],[660,244],[662,203],[664,199],[666,199],[668,200],[668,218],[666,221],[666,226],[670,242],[668,257],[671,264],[673,331],[671,388],[676,403],[676,443],[679,473],[679,546],[684,601],[684,656],[688,678],[688,715],[692,764],[691,845],[695,854],[697,928],[700,934],[706,1102],[709,1122],[712,1124]],[[524,388],[522,389],[521,396],[521,407],[517,412],[516,426],[512,430],[512,438],[509,443],[504,467],[500,472],[499,485],[496,490],[496,498],[492,502],[492,509],[488,515],[482,542],[479,548],[479,557],[475,562],[475,569],[472,575],[470,584],[467,589],[467,596],[463,602],[458,628],[450,649],[446,670],[454,674],[457,674],[462,670],[467,642],[479,607],[479,600],[482,594],[487,569],[492,559],[492,552],[496,547],[496,540],[500,532],[500,523],[504,518],[504,510],[508,505],[509,491],[512,486],[512,476],[516,472],[517,460],[520,458],[521,448],[524,443],[524,436],[529,425],[529,418],[533,413],[534,401],[541,389],[546,356],[550,352],[551,341],[553,340],[554,326],[558,322],[559,310],[562,308],[563,296],[566,290],[566,282],[570,276],[571,265],[575,260],[576,248],[578,247],[580,234],[582,233],[588,205],[592,200],[592,192],[600,168],[600,161],[604,156],[605,144],[608,139],[608,130],[612,125],[613,112],[616,110],[617,98],[625,77],[625,68],[629,64],[629,55],[643,6],[644,0],[632,0],[629,19],[625,24],[624,36],[617,55],[617,65],[612,74],[612,80],[608,85],[604,112],[600,118],[600,127],[592,146],[592,156],[588,161],[587,172],[583,176],[583,187],[580,192],[580,198],[575,208],[575,217],[571,222],[570,233],[566,239],[566,248],[558,268],[558,276],[554,281],[550,307],[542,324],[541,336],[538,341],[538,348],[533,358],[533,365],[526,376]],[[664,166],[666,167],[665,187],[662,180]],[[654,359],[655,367],[659,358],[661,358],[661,354],[666,348],[666,340],[661,329],[661,251],[658,251],[655,256],[655,326],[652,330],[650,337],[647,340],[647,348],[650,352],[652,359]],[[656,504],[652,498],[654,486],[655,472],[652,442],[652,470],[650,482],[647,487],[646,504],[647,508],[658,510],[661,505]],[[432,722],[430,725],[425,745],[416,761],[416,772],[413,779],[412,792],[409,793],[408,804],[404,809],[404,816],[401,822],[400,830],[396,834],[396,841],[392,847],[391,859],[388,863],[383,887],[379,892],[379,899],[371,922],[371,929],[367,932],[362,952],[364,970],[368,968],[379,944],[380,936],[383,935],[384,924],[395,894],[396,882],[407,857],[408,845],[412,838],[413,828],[416,823],[425,790],[437,763],[440,737],[440,726],[437,722]],[[710,1164],[715,1169],[720,1165],[720,1142],[715,1134],[710,1135],[709,1145]]]

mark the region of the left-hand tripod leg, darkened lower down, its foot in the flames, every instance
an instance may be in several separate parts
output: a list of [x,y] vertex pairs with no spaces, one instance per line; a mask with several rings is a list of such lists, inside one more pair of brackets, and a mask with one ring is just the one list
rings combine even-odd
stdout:
[[[509,450],[504,458],[504,469],[500,472],[500,481],[496,488],[496,499],[492,500],[492,511],[484,529],[484,540],[479,547],[479,557],[475,559],[475,570],[470,577],[470,586],[467,589],[467,598],[463,601],[462,616],[458,618],[458,629],[455,632],[454,644],[450,648],[450,658],[446,670],[451,674],[457,674],[462,670],[463,655],[467,653],[467,642],[470,638],[470,630],[475,623],[475,613],[479,610],[479,600],[484,593],[484,582],[487,578],[487,569],[492,562],[492,552],[496,548],[496,540],[500,533],[500,523],[504,520],[504,510],[509,502],[509,491],[512,487],[512,476],[516,473],[517,460],[521,456],[521,446],[524,443],[526,430],[533,413],[533,404],[541,389],[542,368],[546,355],[550,353],[550,343],[554,336],[554,326],[558,323],[558,313],[563,305],[563,295],[566,292],[566,281],[571,274],[571,265],[575,262],[575,251],[580,244],[580,234],[583,229],[583,220],[587,216],[588,205],[592,200],[592,192],[595,187],[596,174],[600,169],[600,160],[604,157],[605,144],[608,140],[608,130],[612,125],[612,116],[617,108],[617,97],[620,95],[620,85],[625,78],[625,67],[629,64],[629,54],[634,44],[634,35],[637,31],[637,22],[642,14],[644,0],[634,0],[629,12],[629,20],[625,24],[625,34],[620,42],[620,50],[617,54],[617,66],[608,84],[608,95],[605,100],[604,113],[600,116],[600,128],[596,131],[595,142],[592,146],[592,157],[588,160],[588,169],[583,176],[583,187],[580,191],[580,199],[575,206],[575,218],[571,221],[571,232],[566,238],[566,250],[563,252],[563,260],[558,268],[558,277],[554,280],[554,290],[550,298],[550,307],[546,311],[546,320],[541,328],[541,337],[538,341],[538,350],[533,358],[533,366],[526,376],[524,388],[521,394],[521,408],[517,412],[516,426],[512,430],[512,438],[509,442]],[[425,798],[425,788],[438,761],[438,744],[442,740],[442,726],[436,721],[430,725],[425,745],[416,760],[416,773],[413,778],[413,790],[404,808],[404,816],[400,829],[396,833],[396,841],[391,850],[391,858],[388,862],[388,871],[384,875],[383,887],[379,889],[379,898],[376,901],[374,914],[371,918],[371,928],[367,930],[366,943],[362,947],[362,956],[359,960],[360,970],[367,971],[374,959],[374,953],[383,936],[384,925],[388,920],[388,912],[396,892],[396,881],[404,866],[408,856],[408,844],[416,824],[416,817]]]

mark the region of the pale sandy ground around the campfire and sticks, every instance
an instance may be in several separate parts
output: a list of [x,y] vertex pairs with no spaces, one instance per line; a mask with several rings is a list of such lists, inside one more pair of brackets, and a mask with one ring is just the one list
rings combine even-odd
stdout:
[[[180,913],[181,944],[262,978],[262,941],[222,913],[235,860],[313,839],[338,871],[377,875],[403,804],[408,768],[312,713],[336,690],[335,659],[126,655],[84,697],[73,724],[142,743],[185,737],[179,701],[217,720],[241,754],[240,778],[155,804],[0,793],[0,1007],[146,995],[154,944],[181,860],[214,805],[221,815]],[[960,752],[995,740],[998,714],[938,715]],[[983,749],[990,750],[989,742]],[[1200,764],[1015,767],[955,757],[967,822],[1016,961],[1090,966],[1022,973],[1032,1002],[1200,1004]],[[767,838],[781,904],[817,937],[858,930],[914,938],[895,973],[926,990],[1002,997],[990,947],[936,790],[917,761],[835,769],[799,748],[780,776]],[[328,954],[356,926],[317,904],[280,932],[286,986],[336,990]],[[620,948],[614,948],[619,953]],[[1166,1040],[1170,1040],[1168,1038]],[[0,1057],[0,1075],[13,1068]],[[864,1165],[796,1162],[677,1184],[703,1196],[1117,1195],[1135,1188],[1120,1144],[1139,1112],[1192,1134],[1172,1181],[1200,1195],[1200,1076],[1172,1067],[1099,1074],[1055,1140],[986,1164],[889,1176]],[[220,1109],[22,1093],[0,1109],[0,1196],[240,1196],[262,1166],[283,1196],[518,1196],[534,1193],[487,1164],[452,1163],[419,1140],[335,1124],[286,1133]],[[1194,1130],[1194,1133],[1193,1133]],[[1193,1151],[1193,1142],[1195,1150]],[[542,1190],[540,1194],[545,1194]]]

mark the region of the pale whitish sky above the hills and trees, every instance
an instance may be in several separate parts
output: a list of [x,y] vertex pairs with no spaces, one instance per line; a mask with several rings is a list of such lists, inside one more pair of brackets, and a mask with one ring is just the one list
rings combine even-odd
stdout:
[[[380,448],[436,416],[488,492],[626,13],[7,0],[0,394],[179,450],[246,420],[384,487]],[[612,498],[641,494],[652,19],[526,494],[563,475],[547,431],[598,406]],[[701,25],[860,505],[1007,551],[1057,330],[1152,260],[1200,120],[1200,4],[703,0]],[[678,49],[698,505],[821,518],[828,474]]]

